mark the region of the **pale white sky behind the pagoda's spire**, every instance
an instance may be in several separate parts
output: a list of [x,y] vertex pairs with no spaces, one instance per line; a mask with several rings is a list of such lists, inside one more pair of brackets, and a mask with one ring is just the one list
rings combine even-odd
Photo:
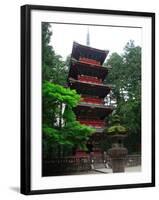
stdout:
[[[123,48],[130,40],[135,45],[142,46],[142,29],[127,27],[88,26],[72,24],[51,23],[51,45],[56,54],[62,56],[63,60],[71,54],[73,41],[86,45],[87,31],[89,28],[90,46],[103,50],[109,50],[118,54],[123,53]],[[109,57],[109,56],[108,56]]]

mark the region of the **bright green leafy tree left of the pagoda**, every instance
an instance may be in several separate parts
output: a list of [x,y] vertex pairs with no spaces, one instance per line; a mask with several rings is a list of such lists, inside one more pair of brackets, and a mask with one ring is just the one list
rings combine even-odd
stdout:
[[72,154],[73,148],[86,149],[86,141],[94,129],[76,121],[72,109],[80,101],[80,95],[50,82],[43,83],[42,91],[44,158]]

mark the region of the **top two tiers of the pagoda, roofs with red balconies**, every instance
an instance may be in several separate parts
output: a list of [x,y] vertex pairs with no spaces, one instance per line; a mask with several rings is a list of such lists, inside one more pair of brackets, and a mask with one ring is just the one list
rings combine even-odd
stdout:
[[108,74],[102,64],[109,51],[95,49],[74,42],[68,79],[101,84]]

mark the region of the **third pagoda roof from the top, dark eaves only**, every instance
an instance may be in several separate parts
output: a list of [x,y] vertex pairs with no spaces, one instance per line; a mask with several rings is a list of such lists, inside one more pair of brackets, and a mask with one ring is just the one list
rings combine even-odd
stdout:
[[69,87],[75,89],[78,94],[98,96],[99,98],[107,96],[111,89],[110,85],[82,82],[74,79],[69,79]]

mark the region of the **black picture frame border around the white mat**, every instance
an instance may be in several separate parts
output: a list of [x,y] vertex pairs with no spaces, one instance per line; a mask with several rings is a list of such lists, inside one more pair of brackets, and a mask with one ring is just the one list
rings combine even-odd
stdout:
[[[59,11],[66,13],[87,13],[102,15],[120,15],[151,18],[151,182],[106,186],[89,186],[58,189],[31,189],[31,12]],[[55,7],[43,5],[24,5],[21,7],[21,193],[22,194],[48,194],[62,192],[79,192],[108,189],[127,189],[155,186],[155,13],[102,10],[89,8]]]

